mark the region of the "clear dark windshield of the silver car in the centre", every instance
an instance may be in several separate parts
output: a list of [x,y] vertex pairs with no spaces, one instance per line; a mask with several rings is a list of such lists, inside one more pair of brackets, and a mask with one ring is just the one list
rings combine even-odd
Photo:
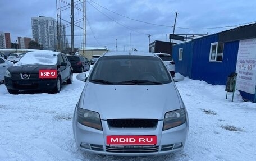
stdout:
[[171,82],[161,59],[150,56],[105,56],[89,77],[98,84],[157,85]]

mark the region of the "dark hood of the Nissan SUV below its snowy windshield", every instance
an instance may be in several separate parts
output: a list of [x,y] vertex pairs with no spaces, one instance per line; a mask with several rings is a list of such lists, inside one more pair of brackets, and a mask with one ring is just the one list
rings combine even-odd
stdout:
[[11,66],[8,68],[8,71],[11,73],[19,72],[31,72],[39,73],[39,70],[51,70],[56,69],[56,65],[21,65],[21,66]]

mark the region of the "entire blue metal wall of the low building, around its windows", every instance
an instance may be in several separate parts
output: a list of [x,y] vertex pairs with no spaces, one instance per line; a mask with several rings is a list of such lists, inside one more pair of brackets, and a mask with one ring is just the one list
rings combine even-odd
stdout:
[[[173,45],[172,57],[175,60],[176,72],[209,84],[226,85],[228,75],[236,71],[239,40],[224,43],[222,62],[209,62],[211,43],[215,42],[218,42],[218,34]],[[183,48],[182,61],[179,61],[179,48]],[[244,99],[256,102],[256,94],[243,91],[240,94]]]

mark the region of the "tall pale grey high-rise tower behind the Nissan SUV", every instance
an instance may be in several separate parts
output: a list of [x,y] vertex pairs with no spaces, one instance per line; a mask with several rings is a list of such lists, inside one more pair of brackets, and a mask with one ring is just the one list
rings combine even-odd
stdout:
[[[52,17],[31,17],[32,35],[38,40],[38,44],[42,44],[45,49],[57,49],[57,22]],[[60,29],[60,44],[65,44],[65,27],[63,24],[58,26]],[[62,45],[61,45],[62,46]]]

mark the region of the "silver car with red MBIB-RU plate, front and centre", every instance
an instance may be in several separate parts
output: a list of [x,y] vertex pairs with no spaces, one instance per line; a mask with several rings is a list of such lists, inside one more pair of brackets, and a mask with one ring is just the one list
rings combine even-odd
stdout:
[[188,113],[154,53],[107,52],[95,63],[76,104],[79,149],[103,155],[158,155],[184,148]]

